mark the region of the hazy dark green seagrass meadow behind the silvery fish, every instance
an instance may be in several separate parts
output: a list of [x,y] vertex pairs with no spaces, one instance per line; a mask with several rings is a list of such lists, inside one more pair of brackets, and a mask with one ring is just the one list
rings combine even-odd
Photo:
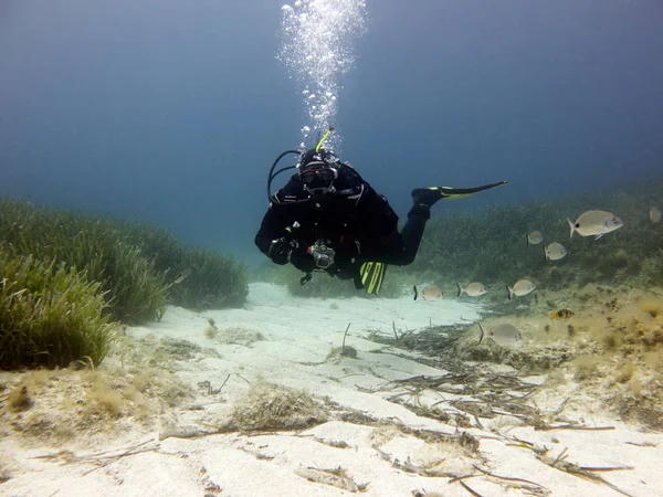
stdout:
[[[662,285],[663,225],[649,219],[650,208],[662,204],[662,182],[476,213],[445,215],[442,204],[442,215],[429,222],[417,260],[407,269],[441,285],[480,281],[502,289],[520,278],[541,290],[589,283]],[[600,240],[577,234],[569,240],[567,218],[575,222],[590,209],[614,213],[623,228]],[[544,241],[528,246],[526,236],[533,231],[541,232]],[[565,258],[546,261],[544,246],[552,242],[568,250]]]

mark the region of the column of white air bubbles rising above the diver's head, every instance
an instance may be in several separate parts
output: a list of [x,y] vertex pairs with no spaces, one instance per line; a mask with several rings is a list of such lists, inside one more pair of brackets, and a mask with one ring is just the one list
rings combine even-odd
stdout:
[[[283,44],[278,60],[297,82],[309,121],[302,128],[302,148],[334,125],[340,76],[355,64],[355,40],[366,32],[366,2],[297,0],[283,6]],[[334,134],[327,148],[339,146]]]

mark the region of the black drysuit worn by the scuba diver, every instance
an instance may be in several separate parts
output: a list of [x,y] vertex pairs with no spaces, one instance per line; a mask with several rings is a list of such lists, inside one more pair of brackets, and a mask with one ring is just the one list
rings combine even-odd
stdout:
[[[290,262],[309,273],[315,268],[306,248],[323,240],[336,251],[335,264],[327,273],[340,278],[355,278],[364,262],[407,265],[414,261],[430,208],[414,205],[408,222],[398,232],[398,215],[383,195],[378,194],[354,168],[338,165],[333,192],[311,195],[298,175],[278,190],[270,203],[255,244],[270,256],[272,242],[295,240]],[[290,229],[290,230],[288,230]],[[285,264],[286,260],[276,260]]]

